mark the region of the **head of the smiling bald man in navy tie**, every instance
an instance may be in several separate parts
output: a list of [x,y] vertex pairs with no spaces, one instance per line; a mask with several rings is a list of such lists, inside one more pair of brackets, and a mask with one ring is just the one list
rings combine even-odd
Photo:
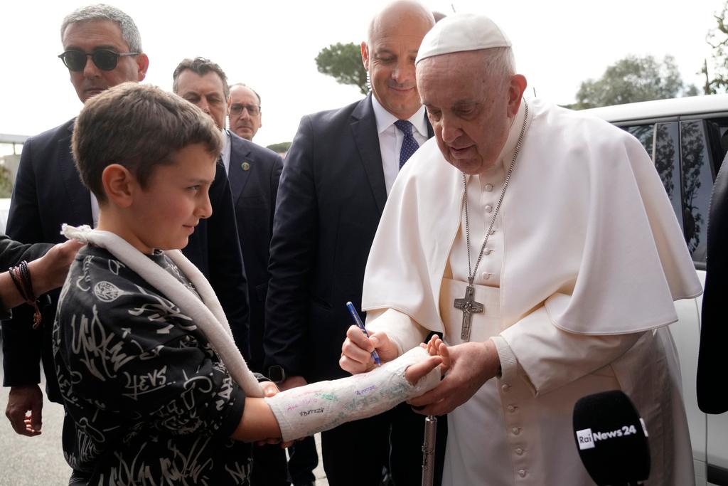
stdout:
[[376,100],[399,119],[408,119],[421,106],[414,78],[419,44],[435,25],[430,10],[411,0],[384,7],[369,24],[362,42],[362,62]]

